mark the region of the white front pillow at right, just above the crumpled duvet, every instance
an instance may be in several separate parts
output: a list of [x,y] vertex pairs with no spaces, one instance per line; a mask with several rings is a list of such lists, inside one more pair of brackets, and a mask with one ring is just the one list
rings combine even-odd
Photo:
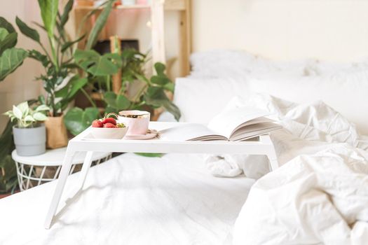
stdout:
[[274,76],[250,79],[252,92],[297,103],[322,100],[368,134],[368,70],[334,76]]

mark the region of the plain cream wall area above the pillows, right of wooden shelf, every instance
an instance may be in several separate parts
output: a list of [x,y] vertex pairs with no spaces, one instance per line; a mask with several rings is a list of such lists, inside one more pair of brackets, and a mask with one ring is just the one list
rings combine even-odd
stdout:
[[367,0],[192,0],[193,51],[247,50],[272,59],[368,56]]

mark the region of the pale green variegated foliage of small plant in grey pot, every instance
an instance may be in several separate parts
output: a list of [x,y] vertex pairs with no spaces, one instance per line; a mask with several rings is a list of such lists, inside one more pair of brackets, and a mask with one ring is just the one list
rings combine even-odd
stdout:
[[18,106],[13,106],[13,110],[7,111],[4,115],[11,118],[11,121],[17,121],[17,127],[37,127],[39,123],[48,119],[46,112],[50,111],[48,106],[41,104],[34,109],[30,108],[28,102],[22,102]]

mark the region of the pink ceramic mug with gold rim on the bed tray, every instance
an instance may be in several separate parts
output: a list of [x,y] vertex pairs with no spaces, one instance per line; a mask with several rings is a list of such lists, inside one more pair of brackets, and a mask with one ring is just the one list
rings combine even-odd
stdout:
[[120,111],[118,122],[129,127],[127,135],[146,134],[149,125],[148,111]]

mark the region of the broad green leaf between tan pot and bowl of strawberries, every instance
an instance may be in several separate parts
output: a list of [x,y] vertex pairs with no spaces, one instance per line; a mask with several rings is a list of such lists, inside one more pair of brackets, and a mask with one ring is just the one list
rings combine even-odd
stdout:
[[95,107],[86,108],[85,111],[75,107],[64,116],[64,123],[71,134],[77,135],[90,127],[93,120],[99,117],[100,112]]

